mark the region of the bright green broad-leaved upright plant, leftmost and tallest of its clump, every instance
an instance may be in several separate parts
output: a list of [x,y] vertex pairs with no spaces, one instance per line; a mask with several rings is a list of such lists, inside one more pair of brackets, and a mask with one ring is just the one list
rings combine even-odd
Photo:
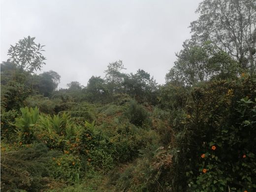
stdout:
[[32,143],[34,139],[34,127],[39,118],[39,110],[37,107],[21,108],[22,117],[16,118],[15,126],[18,128],[20,141],[24,143]]

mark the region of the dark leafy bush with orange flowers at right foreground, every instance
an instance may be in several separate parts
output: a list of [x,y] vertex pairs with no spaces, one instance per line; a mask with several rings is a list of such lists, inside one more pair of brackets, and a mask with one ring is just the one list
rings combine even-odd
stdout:
[[[213,80],[192,88],[174,130],[173,189],[256,190],[256,79]],[[177,120],[177,118],[176,118]],[[178,153],[174,153],[178,151]],[[180,185],[184,183],[186,185]]]

